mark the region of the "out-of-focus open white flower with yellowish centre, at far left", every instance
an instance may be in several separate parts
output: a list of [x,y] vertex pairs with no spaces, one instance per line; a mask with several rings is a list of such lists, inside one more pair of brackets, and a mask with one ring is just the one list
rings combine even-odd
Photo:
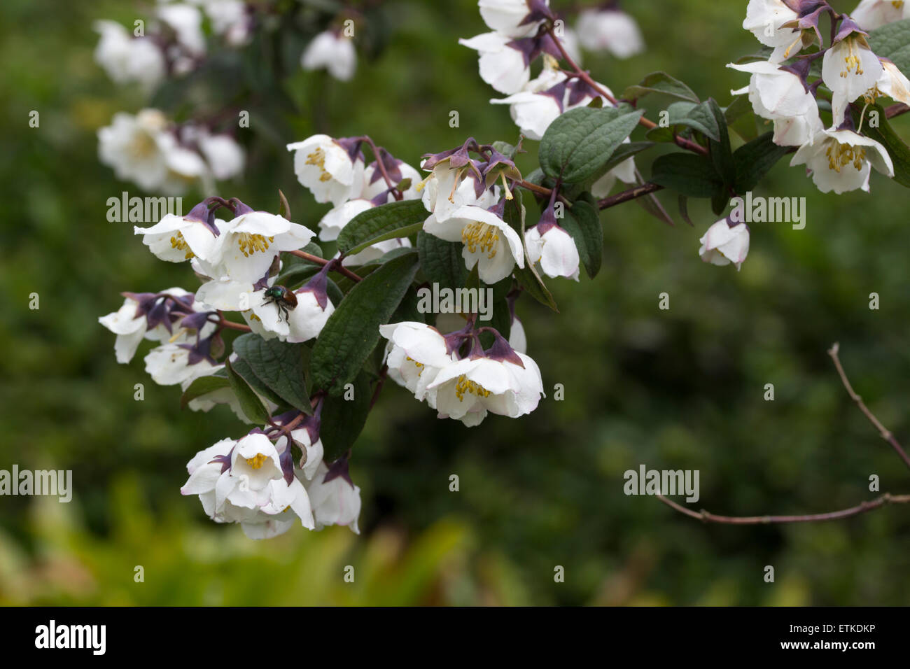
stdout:
[[184,192],[207,174],[198,154],[178,146],[167,118],[157,109],[143,109],[136,116],[117,112],[110,126],[98,130],[98,157],[114,168],[117,178],[166,195]]

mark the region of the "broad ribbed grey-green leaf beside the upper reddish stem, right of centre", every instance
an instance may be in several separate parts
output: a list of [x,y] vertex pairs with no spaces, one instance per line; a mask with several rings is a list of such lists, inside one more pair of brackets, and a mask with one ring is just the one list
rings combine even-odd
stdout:
[[543,172],[569,184],[592,177],[629,137],[643,113],[622,114],[612,107],[587,106],[566,112],[550,124],[541,139]]

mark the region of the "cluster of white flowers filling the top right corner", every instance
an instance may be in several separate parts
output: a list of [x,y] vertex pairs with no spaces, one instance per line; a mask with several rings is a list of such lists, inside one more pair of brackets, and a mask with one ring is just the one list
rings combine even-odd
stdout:
[[[862,24],[815,0],[750,0],[747,8],[743,27],[773,51],[767,61],[729,65],[751,75],[749,86],[733,94],[748,94],[755,114],[773,122],[774,143],[796,147],[790,164],[804,165],[823,193],[868,191],[873,168],[894,176],[885,147],[862,134],[865,108],[879,97],[910,103],[910,82],[894,63],[873,53],[861,27],[901,17],[884,5],[895,4],[864,0],[857,8]],[[834,22],[827,44],[818,29],[826,12]],[[815,44],[813,52],[801,53]],[[813,68],[819,58],[821,76]],[[820,95],[823,86],[830,96]],[[830,123],[822,119],[823,100],[824,109],[831,111]],[[864,102],[858,124],[848,113],[857,101]]]

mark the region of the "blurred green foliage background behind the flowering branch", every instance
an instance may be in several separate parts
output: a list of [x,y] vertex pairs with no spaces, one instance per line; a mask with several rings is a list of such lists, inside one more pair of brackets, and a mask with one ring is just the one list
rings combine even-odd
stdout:
[[[411,164],[468,136],[515,141],[508,110],[488,104],[498,95],[474,52],[457,44],[485,30],[475,3],[383,7],[381,55],[361,58],[349,84],[294,75],[301,111],[286,119],[291,135],[250,137],[248,177],[221,195],[277,209],[281,188],[295,220],[315,226],[326,207],[298,185],[286,141],[368,133]],[[757,46],[740,28],[744,2],[627,7],[647,53],[585,61],[614,90],[664,69],[726,105],[745,84],[724,67]],[[785,160],[757,194],[807,198],[807,226],[753,224],[739,273],[698,259],[714,220],[707,203],[690,202],[694,229],[679,217],[663,226],[634,204],[602,215],[601,275],[551,281],[558,316],[518,305],[548,393],[531,416],[468,429],[389,384],[351,466],[363,489],[361,536],[295,529],[249,542],[236,526],[208,522],[196,499],[179,496],[186,461],[245,429],[224,407],[180,411],[177,389],[143,371],[147,346],[117,365],[114,338],[96,321],[119,306],[121,290],[195,280],[149,254],[128,224],[106,221],[106,199],[136,188],[98,163],[95,132],[143,98],[94,64],[91,23],[126,24],[141,11],[113,0],[0,7],[0,469],[72,469],[76,488],[69,505],[0,498],[0,603],[910,601],[907,508],[826,524],[707,526],[622,493],[623,471],[642,462],[700,470],[698,506],[718,513],[852,506],[873,496],[871,474],[883,492],[910,490],[825,355],[839,340],[857,391],[910,441],[906,191],[875,175],[872,195],[822,196]],[[650,116],[666,102],[649,98]],[[39,128],[28,127],[33,109]],[[459,128],[449,127],[450,110]],[[910,139],[906,117],[895,129]],[[645,175],[650,159],[640,160]],[[532,164],[526,156],[521,167]],[[672,198],[663,202],[675,213]],[[32,292],[39,310],[28,309]],[[662,292],[669,311],[657,308]],[[136,383],[144,401],[133,400]],[[564,401],[552,399],[556,383]],[[763,400],[766,383],[773,402]],[[449,490],[453,473],[460,492]],[[763,583],[769,564],[774,584]],[[346,565],[355,583],[342,581]],[[554,583],[556,565],[565,583]]]

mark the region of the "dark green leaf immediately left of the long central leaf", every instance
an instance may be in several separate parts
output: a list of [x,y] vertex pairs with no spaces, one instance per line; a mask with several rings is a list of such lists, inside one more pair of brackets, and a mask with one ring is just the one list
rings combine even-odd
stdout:
[[[268,390],[295,409],[312,413],[309,389],[303,374],[309,358],[309,350],[304,344],[289,344],[277,339],[264,340],[248,333],[234,340],[234,352],[248,364],[249,370]],[[237,371],[243,374],[239,367]],[[248,378],[247,380],[249,381]],[[255,388],[256,384],[251,385]]]

